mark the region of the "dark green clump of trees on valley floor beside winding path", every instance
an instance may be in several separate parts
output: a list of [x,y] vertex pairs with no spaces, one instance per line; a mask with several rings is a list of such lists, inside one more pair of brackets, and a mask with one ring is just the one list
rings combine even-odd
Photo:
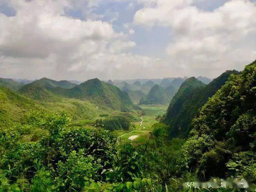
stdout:
[[116,117],[116,118],[107,118],[107,119],[97,119],[95,127],[105,128],[106,130],[115,131],[115,130],[129,130],[132,126],[130,120],[125,117]]

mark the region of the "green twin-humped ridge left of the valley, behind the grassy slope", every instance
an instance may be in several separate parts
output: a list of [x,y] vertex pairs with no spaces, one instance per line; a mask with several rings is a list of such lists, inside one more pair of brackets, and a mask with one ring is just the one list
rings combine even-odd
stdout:
[[[72,88],[64,88],[64,84],[63,81],[56,82],[43,78],[27,84],[19,92],[32,99],[50,102],[56,102],[66,97],[88,100],[114,110],[127,110],[133,107],[132,101],[126,92],[122,92],[116,86],[98,79],[88,80]],[[66,84],[66,86],[68,85],[70,84]]]

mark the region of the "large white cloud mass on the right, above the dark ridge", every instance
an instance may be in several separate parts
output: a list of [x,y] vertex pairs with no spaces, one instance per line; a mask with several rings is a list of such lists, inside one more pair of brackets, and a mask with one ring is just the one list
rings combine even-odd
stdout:
[[170,27],[173,39],[166,54],[176,67],[192,75],[241,70],[256,58],[253,1],[230,0],[213,11],[200,10],[196,0],[139,1],[144,7],[134,15],[134,24]]

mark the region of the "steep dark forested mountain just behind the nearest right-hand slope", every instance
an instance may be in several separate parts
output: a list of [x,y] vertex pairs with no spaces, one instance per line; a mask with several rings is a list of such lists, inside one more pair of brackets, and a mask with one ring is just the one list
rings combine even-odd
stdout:
[[187,79],[180,86],[163,120],[170,126],[172,137],[182,137],[188,134],[191,120],[198,109],[225,84],[230,74],[238,74],[238,72],[235,70],[226,71],[208,85],[193,77]]

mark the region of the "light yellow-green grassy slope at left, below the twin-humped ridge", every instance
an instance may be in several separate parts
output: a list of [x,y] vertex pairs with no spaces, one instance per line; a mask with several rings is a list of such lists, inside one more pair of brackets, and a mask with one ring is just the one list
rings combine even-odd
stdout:
[[88,101],[60,98],[56,102],[38,101],[20,96],[8,88],[0,88],[0,125],[20,122],[30,110],[49,112],[66,111],[72,120],[93,119],[113,110],[97,106]]

